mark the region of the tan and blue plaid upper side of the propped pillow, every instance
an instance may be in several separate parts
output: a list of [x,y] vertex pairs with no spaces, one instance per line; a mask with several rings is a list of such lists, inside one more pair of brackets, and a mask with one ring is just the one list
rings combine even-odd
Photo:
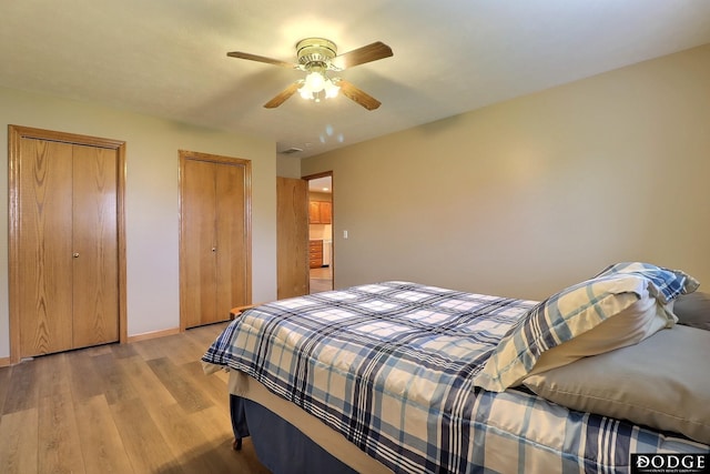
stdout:
[[639,300],[647,302],[648,286],[649,281],[638,274],[613,273],[554,294],[510,327],[474,384],[493,392],[519,384],[544,352],[592,330]]

